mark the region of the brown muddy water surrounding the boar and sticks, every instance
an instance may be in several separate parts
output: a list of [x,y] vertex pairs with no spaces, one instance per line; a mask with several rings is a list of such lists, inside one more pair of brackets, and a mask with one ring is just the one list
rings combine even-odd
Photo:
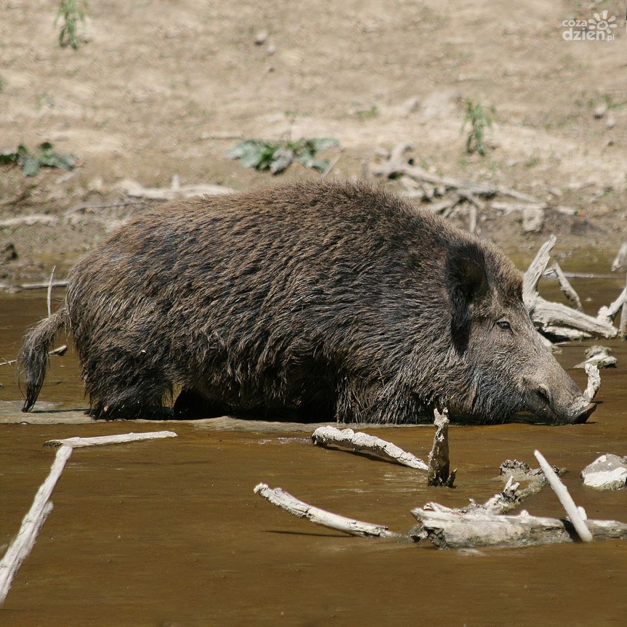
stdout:
[[[621,280],[579,280],[589,312]],[[554,295],[554,286],[547,295]],[[0,361],[45,314],[43,294],[0,297]],[[559,360],[580,384],[584,347]],[[424,473],[308,440],[295,424],[216,419],[198,423],[93,423],[76,362],[53,359],[38,413],[20,414],[11,366],[0,367],[0,545],[16,534],[46,477],[51,438],[169,428],[176,440],[74,451],[55,508],[0,610],[0,624],[242,625],[436,624],[619,625],[627,612],[627,542],[481,552],[436,551],[399,540],[345,537],[290,517],[253,495],[258,482],[344,515],[404,531],[429,500],[453,507],[498,492],[500,462],[531,462],[540,448],[570,472],[565,481],[590,517],[627,520],[627,492],[599,493],[578,473],[600,453],[627,454],[627,344],[602,372],[591,423],[451,428],[458,488],[427,488]],[[53,409],[54,411],[48,411]],[[26,418],[30,424],[18,424]],[[426,458],[433,431],[367,429]],[[524,505],[562,515],[544,491]]]

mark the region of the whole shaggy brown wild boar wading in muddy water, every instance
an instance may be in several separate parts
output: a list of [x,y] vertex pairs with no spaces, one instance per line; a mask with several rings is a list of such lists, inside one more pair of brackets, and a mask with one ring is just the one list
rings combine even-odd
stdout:
[[308,181],[145,213],[71,271],[19,362],[30,411],[71,330],[95,418],[252,413],[586,421],[494,246],[366,183]]

